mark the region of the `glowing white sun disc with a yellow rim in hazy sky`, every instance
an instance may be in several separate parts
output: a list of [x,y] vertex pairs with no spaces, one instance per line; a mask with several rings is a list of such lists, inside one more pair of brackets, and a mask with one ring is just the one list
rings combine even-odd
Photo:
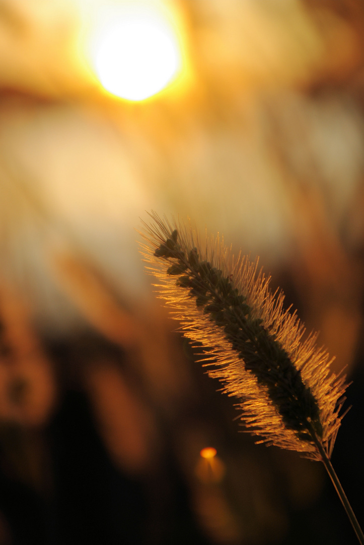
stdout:
[[129,9],[104,26],[94,64],[106,90],[138,101],[174,79],[181,68],[181,53],[168,20],[146,8]]

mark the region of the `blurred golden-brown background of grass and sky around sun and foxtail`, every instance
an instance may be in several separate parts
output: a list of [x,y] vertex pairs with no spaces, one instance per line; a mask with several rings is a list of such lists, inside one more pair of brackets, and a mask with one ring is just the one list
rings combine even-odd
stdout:
[[353,380],[332,461],[364,524],[363,4],[165,3],[186,73],[131,102],[86,54],[121,3],[0,2],[0,544],[354,544],[320,464],[238,433],[135,229],[222,233],[320,331]]

